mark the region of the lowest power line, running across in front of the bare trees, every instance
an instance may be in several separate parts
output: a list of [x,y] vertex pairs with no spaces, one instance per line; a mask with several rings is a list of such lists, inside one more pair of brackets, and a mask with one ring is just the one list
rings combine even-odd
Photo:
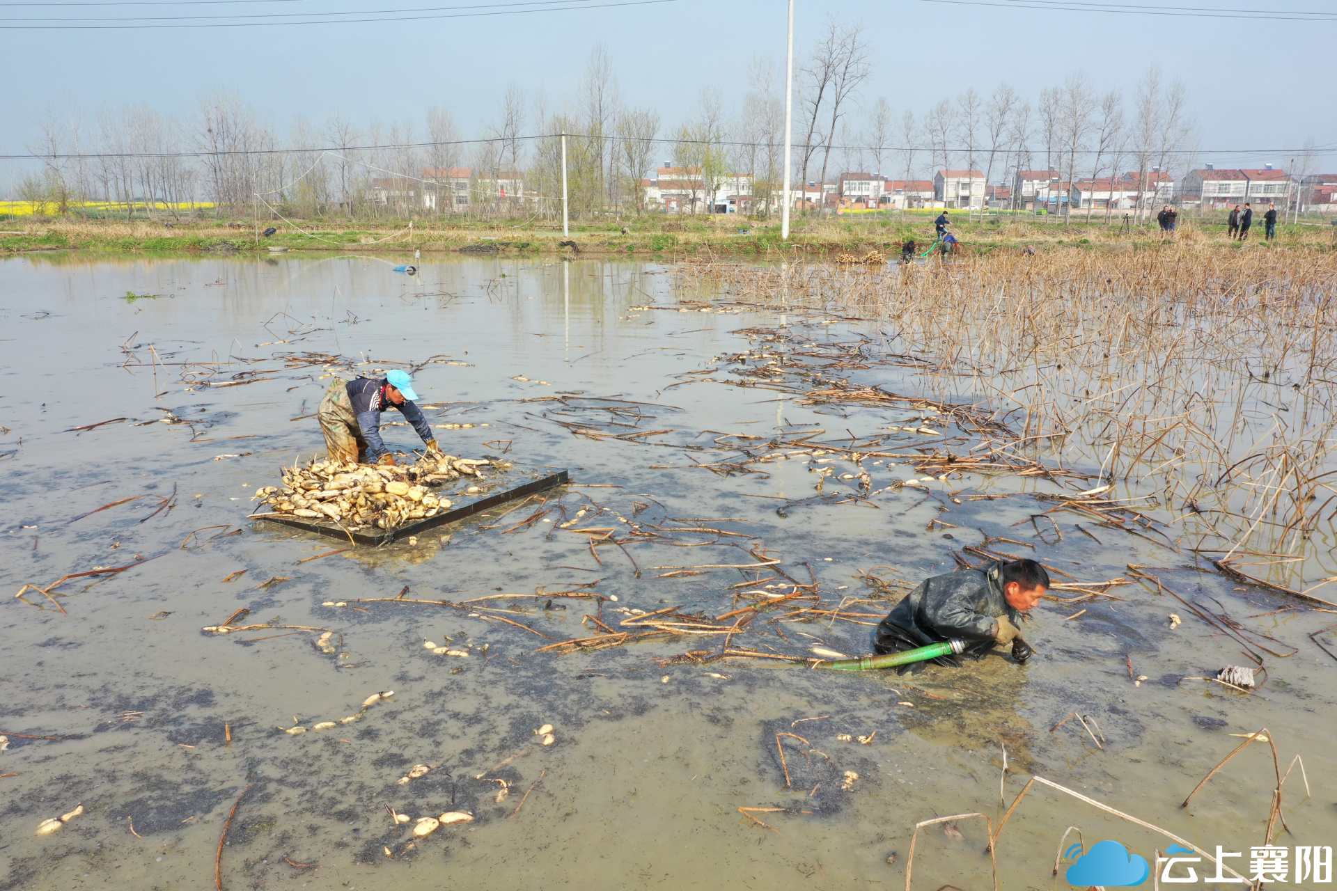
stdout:
[[[509,142],[532,142],[536,139],[559,139],[560,134],[535,134],[532,136],[496,136],[491,139],[456,139],[449,142],[427,142],[427,143],[388,143],[381,146],[329,146],[329,147],[309,147],[309,148],[243,148],[243,150],[230,150],[230,151],[182,151],[182,152],[90,152],[90,154],[52,154],[52,155],[0,155],[0,160],[100,160],[100,159],[126,159],[126,158],[233,158],[233,156],[247,156],[247,155],[309,155],[312,152],[354,152],[354,151],[404,151],[412,148],[441,148],[445,146],[479,146],[484,143],[509,143]],[[568,139],[603,139],[607,142],[640,142],[636,136],[615,136],[611,134],[592,135],[592,134],[567,134]],[[770,143],[750,143],[739,140],[703,140],[703,139],[673,139],[667,136],[656,136],[648,142],[666,146],[718,146],[718,147],[750,147],[750,146],[770,146]],[[779,147],[779,143],[773,146]],[[813,143],[812,146],[794,143],[796,150],[804,148],[824,148],[825,143]],[[976,158],[983,158],[989,154],[989,151],[981,148],[963,148],[963,147],[943,147],[943,146],[832,146],[832,151],[865,151],[872,152],[881,150],[884,154],[892,152],[947,152],[949,155],[973,155]],[[1015,154],[1015,147],[1004,147],[996,150],[995,155]],[[1104,148],[1078,148],[1075,151],[1063,150],[1064,155],[1106,155],[1110,156],[1114,152]],[[1155,155],[1155,156],[1193,156],[1193,155],[1334,155],[1337,154],[1337,143],[1333,147],[1309,147],[1309,148],[1128,148],[1118,152],[1126,158],[1135,158],[1138,155]],[[356,162],[362,163],[362,162]]]

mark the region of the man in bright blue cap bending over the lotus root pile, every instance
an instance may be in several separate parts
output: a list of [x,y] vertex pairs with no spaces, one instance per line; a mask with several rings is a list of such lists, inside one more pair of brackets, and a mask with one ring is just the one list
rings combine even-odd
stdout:
[[417,407],[413,378],[406,371],[390,371],[384,381],[357,378],[330,381],[316,417],[325,431],[325,448],[332,461],[394,464],[394,456],[381,442],[381,411],[398,409],[422,437],[429,452],[439,452],[432,427]]

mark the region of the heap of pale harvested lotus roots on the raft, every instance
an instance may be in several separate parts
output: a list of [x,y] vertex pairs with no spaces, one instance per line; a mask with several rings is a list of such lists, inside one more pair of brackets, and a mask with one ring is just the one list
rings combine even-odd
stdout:
[[[412,465],[366,465],[318,458],[306,466],[283,468],[283,485],[255,490],[255,498],[277,513],[309,520],[333,520],[349,529],[393,529],[410,520],[435,517],[451,506],[432,486],[475,477],[491,461],[428,453]],[[472,488],[472,486],[471,486]]]

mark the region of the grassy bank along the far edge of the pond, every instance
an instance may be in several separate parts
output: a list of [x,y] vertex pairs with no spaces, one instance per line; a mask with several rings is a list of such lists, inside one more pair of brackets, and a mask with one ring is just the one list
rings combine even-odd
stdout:
[[[778,259],[786,255],[830,256],[852,254],[862,258],[869,251],[882,251],[888,258],[905,239],[923,247],[933,242],[933,218],[937,211],[908,212],[889,219],[860,216],[796,219],[789,242],[779,238],[779,223],[758,222],[738,216],[673,218],[642,216],[615,222],[575,223],[570,238],[560,226],[529,223],[447,223],[417,224],[406,220],[386,223],[330,223],[275,220],[278,231],[265,238],[251,228],[229,228],[209,220],[163,223],[63,222],[28,220],[8,223],[0,232],[0,252],[91,248],[107,251],[183,251],[183,252],[257,252],[270,247],[301,251],[368,251],[402,254],[592,254],[623,256],[723,258],[751,256]],[[988,254],[1004,248],[1034,246],[1075,248],[1154,248],[1167,244],[1155,224],[1106,226],[1074,220],[1070,224],[1035,216],[989,216],[965,222],[964,215],[951,214],[953,231],[969,254]],[[262,226],[266,226],[262,223]],[[1271,247],[1262,239],[1262,227],[1251,232],[1247,243],[1231,242],[1223,222],[1189,219],[1175,232],[1178,243],[1215,243],[1237,250]],[[1337,247],[1337,227],[1301,223],[1278,227],[1273,246]]]

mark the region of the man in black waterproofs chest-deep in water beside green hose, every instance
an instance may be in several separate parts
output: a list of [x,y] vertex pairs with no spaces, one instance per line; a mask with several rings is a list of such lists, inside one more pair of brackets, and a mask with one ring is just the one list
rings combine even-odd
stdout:
[[[1012,644],[1012,657],[1024,663],[1034,652],[1021,640],[1021,614],[1035,609],[1050,588],[1050,574],[1034,560],[993,562],[933,576],[896,604],[873,635],[873,651],[898,653],[947,640],[964,640],[965,656],[983,659],[995,644]],[[929,660],[960,668],[956,656]],[[924,663],[898,672],[920,671]]]

